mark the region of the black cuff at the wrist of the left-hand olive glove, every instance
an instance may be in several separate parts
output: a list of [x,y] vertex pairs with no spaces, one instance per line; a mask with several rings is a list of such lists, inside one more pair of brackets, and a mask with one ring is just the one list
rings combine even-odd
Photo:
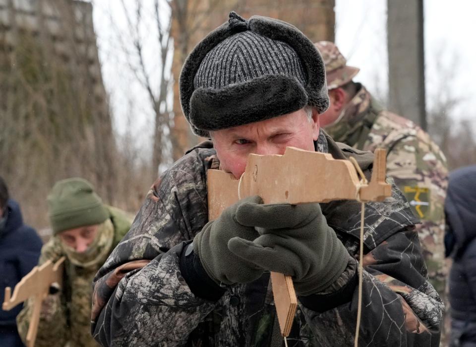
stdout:
[[191,292],[202,299],[217,301],[227,290],[211,279],[198,256],[193,252],[193,243],[183,247],[179,260],[180,273]]

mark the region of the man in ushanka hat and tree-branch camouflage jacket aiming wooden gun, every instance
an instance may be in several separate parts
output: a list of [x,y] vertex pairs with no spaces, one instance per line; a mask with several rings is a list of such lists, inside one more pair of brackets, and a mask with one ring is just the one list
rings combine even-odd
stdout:
[[[293,277],[289,343],[352,346],[357,317],[359,204],[263,205],[241,200],[208,221],[208,169],[240,177],[249,153],[287,146],[357,158],[319,129],[324,65],[292,25],[230,20],[189,55],[180,100],[210,137],[152,186],[131,230],[94,280],[92,333],[104,346],[282,346],[269,272]],[[437,346],[442,304],[426,280],[417,222],[395,186],[367,204],[361,346]]]

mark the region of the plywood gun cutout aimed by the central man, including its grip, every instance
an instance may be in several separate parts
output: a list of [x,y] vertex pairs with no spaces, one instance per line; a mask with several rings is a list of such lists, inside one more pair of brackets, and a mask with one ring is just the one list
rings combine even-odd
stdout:
[[[325,203],[332,200],[383,201],[391,195],[385,181],[386,152],[375,151],[372,178],[361,184],[348,160],[331,154],[286,148],[284,155],[250,154],[240,180],[220,170],[207,171],[208,216],[216,219],[227,207],[259,195],[265,204]],[[290,276],[271,273],[281,334],[289,336],[297,308]]]

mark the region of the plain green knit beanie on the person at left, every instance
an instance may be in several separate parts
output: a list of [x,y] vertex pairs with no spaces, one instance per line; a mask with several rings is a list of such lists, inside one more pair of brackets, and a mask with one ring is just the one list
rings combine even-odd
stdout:
[[83,178],[68,178],[55,184],[48,195],[48,215],[53,233],[80,226],[100,224],[109,217],[91,183]]

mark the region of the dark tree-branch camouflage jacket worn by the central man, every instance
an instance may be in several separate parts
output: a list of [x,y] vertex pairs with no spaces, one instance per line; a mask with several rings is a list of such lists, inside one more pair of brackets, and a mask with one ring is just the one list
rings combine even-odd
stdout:
[[[357,157],[370,173],[371,154],[341,150],[324,136],[319,142],[335,158]],[[196,147],[152,186],[93,282],[92,334],[103,346],[282,346],[274,338],[269,273],[206,300],[180,271],[182,251],[208,220],[207,170],[218,167],[211,146]],[[360,205],[336,201],[321,208],[352,261],[337,292],[299,297],[289,346],[354,343]],[[366,205],[361,346],[438,346],[442,304],[425,279],[415,222],[395,186],[384,203]]]

